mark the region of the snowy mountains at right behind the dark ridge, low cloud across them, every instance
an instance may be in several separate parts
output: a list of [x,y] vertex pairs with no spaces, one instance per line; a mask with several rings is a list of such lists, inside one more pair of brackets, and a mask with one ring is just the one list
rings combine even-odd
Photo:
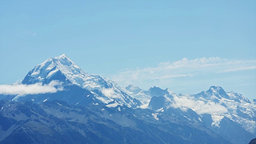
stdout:
[[[168,93],[168,89],[150,90],[154,90],[151,94],[156,96],[152,97],[148,107],[156,112],[172,107],[180,108],[185,114],[193,110],[199,114],[204,126],[234,144],[248,143],[256,137],[256,105],[241,94],[225,92],[219,86],[211,86],[207,91],[192,95]],[[197,120],[190,116],[186,118]]]

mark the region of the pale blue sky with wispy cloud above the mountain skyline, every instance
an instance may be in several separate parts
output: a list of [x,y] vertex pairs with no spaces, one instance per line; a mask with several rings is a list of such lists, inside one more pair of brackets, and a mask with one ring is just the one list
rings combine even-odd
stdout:
[[256,1],[0,1],[0,84],[63,53],[121,86],[252,100]]

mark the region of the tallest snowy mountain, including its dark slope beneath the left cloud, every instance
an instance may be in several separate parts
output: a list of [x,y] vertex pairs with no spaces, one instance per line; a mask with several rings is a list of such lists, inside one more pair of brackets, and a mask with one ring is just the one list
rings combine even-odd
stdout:
[[[43,63],[35,66],[28,72],[24,80],[22,80],[22,84],[35,84],[38,82],[42,82],[42,84],[49,84],[53,80],[62,82],[64,87],[63,92],[40,94],[40,96],[20,95],[16,96],[14,100],[35,100],[35,102],[42,103],[46,99],[58,99],[64,100],[69,104],[79,104],[80,102],[88,101],[88,99],[94,103],[101,101],[106,104],[113,100],[118,100],[118,102],[132,108],[136,108],[141,105],[138,100],[132,98],[120,90],[120,88],[114,86],[114,84],[106,78],[84,72],[65,54],[54,58],[48,58]],[[83,95],[84,98],[80,98],[80,95]],[[74,98],[76,96],[79,98]],[[38,97],[40,98],[38,99]]]

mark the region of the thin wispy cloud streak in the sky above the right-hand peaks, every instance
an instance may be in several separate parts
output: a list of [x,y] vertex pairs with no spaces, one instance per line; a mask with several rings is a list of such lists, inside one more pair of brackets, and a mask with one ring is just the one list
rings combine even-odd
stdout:
[[224,73],[256,69],[256,60],[230,60],[210,57],[174,62],[161,62],[157,67],[137,68],[118,72],[110,79],[119,83],[133,83],[136,80],[166,80],[167,78],[196,76],[198,74]]

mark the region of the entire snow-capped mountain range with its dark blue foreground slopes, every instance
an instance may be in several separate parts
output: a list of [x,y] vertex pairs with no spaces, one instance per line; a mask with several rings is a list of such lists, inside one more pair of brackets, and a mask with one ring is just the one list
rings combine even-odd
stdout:
[[198,94],[122,88],[65,54],[35,66],[21,84],[54,84],[57,91],[0,94],[3,144],[248,144],[256,138],[256,100],[220,86]]

